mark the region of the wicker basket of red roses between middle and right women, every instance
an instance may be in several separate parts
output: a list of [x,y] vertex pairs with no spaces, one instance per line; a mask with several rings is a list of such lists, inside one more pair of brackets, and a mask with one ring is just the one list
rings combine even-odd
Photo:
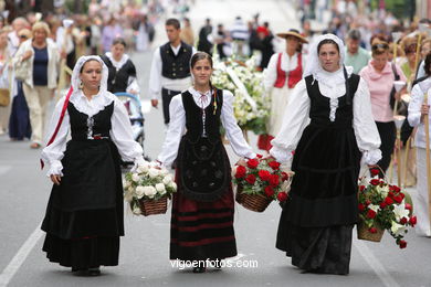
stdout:
[[281,171],[280,166],[260,155],[248,160],[246,167],[235,166],[232,177],[238,187],[236,202],[251,211],[263,212],[273,200],[286,201],[294,172]]

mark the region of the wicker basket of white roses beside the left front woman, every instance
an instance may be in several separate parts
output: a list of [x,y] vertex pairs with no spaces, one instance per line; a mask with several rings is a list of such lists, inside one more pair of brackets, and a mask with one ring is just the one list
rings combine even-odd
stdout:
[[166,213],[168,198],[176,191],[177,184],[169,172],[149,163],[125,176],[124,199],[135,215]]

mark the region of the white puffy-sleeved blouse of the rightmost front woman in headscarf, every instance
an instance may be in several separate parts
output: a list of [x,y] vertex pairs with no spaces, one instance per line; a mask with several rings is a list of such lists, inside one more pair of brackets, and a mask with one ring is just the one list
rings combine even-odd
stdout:
[[[340,78],[338,71],[330,76],[324,75],[325,81],[318,82],[320,94],[330,99],[329,120],[335,120],[335,113],[338,108],[338,98],[346,93],[344,84],[334,85]],[[322,79],[323,79],[322,78]],[[270,153],[280,162],[287,162],[292,159],[292,151],[302,137],[305,127],[309,124],[311,100],[307,94],[305,79],[303,78],[295,86],[292,99],[288,102],[283,118],[283,126],[278,135],[271,141],[273,148]],[[375,164],[381,158],[380,136],[371,114],[371,102],[367,83],[360,78],[358,88],[354,96],[354,120],[356,141],[362,152],[364,161],[367,164]]]

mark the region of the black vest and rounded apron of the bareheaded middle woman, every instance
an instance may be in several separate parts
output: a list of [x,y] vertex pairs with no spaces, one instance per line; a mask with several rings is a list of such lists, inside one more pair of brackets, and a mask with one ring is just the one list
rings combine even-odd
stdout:
[[202,137],[202,109],[189,92],[182,93],[181,97],[187,132],[181,139],[177,158],[179,191],[191,200],[216,201],[229,190],[231,182],[229,158],[220,137],[223,92],[217,91],[216,105],[212,96],[204,109],[207,137]]

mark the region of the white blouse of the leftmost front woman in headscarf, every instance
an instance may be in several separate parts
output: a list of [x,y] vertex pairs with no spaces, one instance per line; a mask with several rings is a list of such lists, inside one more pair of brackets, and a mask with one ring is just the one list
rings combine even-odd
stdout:
[[[54,134],[55,127],[60,119],[61,111],[63,109],[64,100],[65,96],[62,97],[55,106],[48,129],[48,140]],[[128,118],[127,110],[124,104],[116,96],[108,92],[102,92],[93,96],[93,98],[88,100],[87,97],[85,97],[84,94],[80,91],[77,93],[73,93],[70,97],[70,103],[72,103],[78,111],[88,115],[88,117],[94,116],[99,110],[111,105],[113,102],[114,111],[113,116],[111,117],[111,139],[118,148],[118,152],[123,160],[134,161],[135,163],[144,162],[143,148],[133,138],[132,125]],[[63,176],[63,164],[61,160],[64,157],[70,130],[70,117],[66,110],[54,141],[42,150],[42,160],[51,166],[50,170],[48,171],[49,177],[51,174]]]

